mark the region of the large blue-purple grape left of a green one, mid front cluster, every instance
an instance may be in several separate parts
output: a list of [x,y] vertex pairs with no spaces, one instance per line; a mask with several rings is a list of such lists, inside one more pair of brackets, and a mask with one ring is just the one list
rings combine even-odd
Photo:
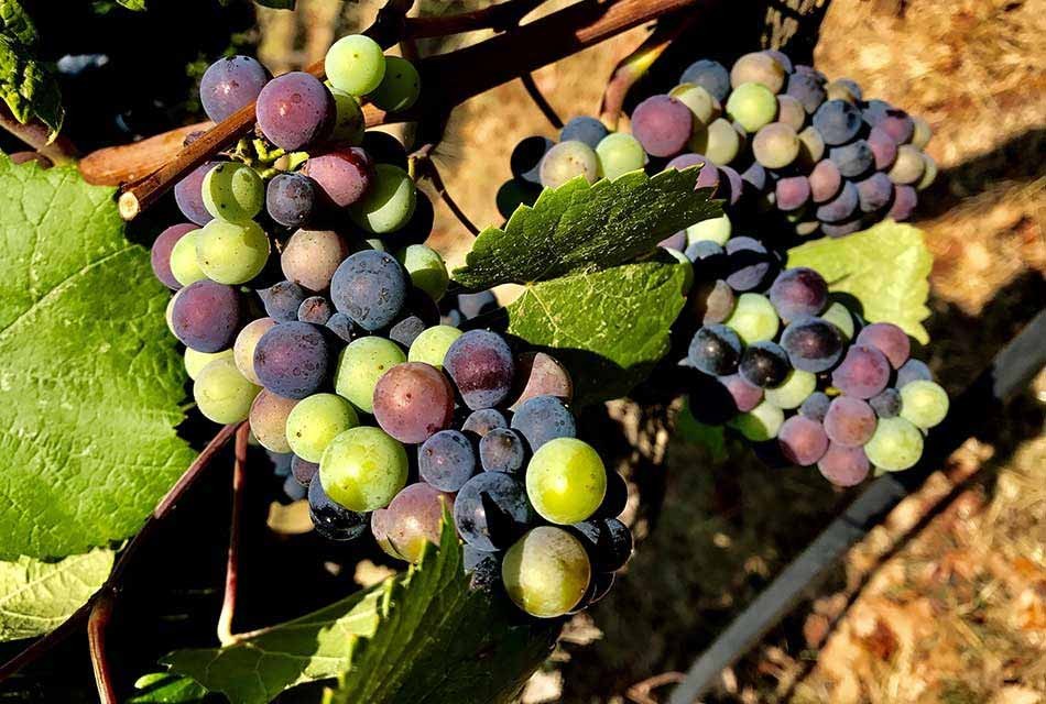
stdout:
[[254,348],[254,373],[262,386],[284,398],[305,398],[327,382],[330,349],[316,326],[282,322]]

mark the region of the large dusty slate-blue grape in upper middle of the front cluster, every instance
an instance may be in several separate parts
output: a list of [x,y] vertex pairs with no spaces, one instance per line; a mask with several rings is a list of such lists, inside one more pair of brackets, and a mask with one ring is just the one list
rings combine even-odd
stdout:
[[369,332],[390,324],[403,310],[407,279],[395,257],[385,252],[357,252],[338,266],[330,279],[335,308],[348,314]]

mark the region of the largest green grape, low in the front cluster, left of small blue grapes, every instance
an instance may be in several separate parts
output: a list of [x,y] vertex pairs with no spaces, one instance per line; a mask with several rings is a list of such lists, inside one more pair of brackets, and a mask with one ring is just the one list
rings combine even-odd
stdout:
[[319,460],[319,482],[330,499],[349,510],[383,508],[406,486],[403,446],[381,428],[360,426],[336,436]]

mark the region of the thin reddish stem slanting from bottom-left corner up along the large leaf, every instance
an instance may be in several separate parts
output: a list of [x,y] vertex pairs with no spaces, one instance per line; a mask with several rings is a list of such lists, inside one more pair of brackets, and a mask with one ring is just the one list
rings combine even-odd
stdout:
[[170,516],[178,503],[178,499],[199,480],[204,470],[206,470],[210,465],[211,460],[215,459],[215,455],[229,442],[229,439],[236,433],[237,428],[242,425],[246,424],[230,424],[218,431],[218,435],[207,443],[207,447],[203,449],[196,460],[185,470],[185,473],[182,474],[182,477],[171,487],[171,491],[156,504],[156,508],[153,509],[153,513],[145,520],[142,529],[138,531],[138,535],[131,539],[123,550],[123,553],[112,568],[112,572],[109,573],[109,578],[105,584],[101,585],[101,588],[95,592],[94,596],[91,596],[86,604],[76,609],[62,625],[0,666],[0,682],[3,682],[25,666],[35,662],[41,656],[77,630],[84,622],[90,618],[95,603],[99,598],[102,596],[111,598],[112,595],[119,593],[120,586],[123,583],[123,574],[127,572],[134,556],[141,550],[142,544],[156,532],[156,529],[163,524],[164,519]]

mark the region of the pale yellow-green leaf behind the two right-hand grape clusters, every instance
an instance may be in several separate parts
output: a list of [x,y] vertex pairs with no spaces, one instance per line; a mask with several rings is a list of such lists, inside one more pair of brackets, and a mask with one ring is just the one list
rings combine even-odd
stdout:
[[849,294],[871,322],[892,322],[926,344],[922,321],[929,317],[929,271],[934,257],[923,232],[886,220],[851,235],[824,238],[788,251],[788,266],[808,266],[831,290]]

